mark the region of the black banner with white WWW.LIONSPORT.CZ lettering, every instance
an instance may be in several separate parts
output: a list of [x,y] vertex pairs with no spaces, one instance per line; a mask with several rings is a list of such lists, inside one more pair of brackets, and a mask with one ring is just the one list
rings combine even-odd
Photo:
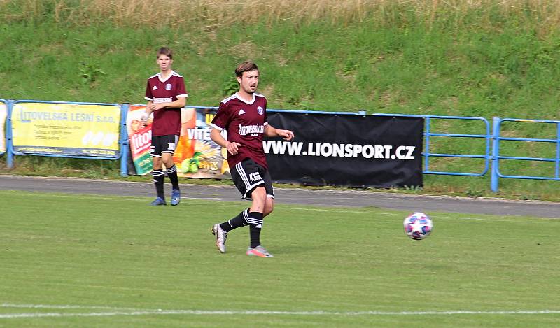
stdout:
[[422,185],[422,117],[269,113],[292,141],[263,142],[272,180],[304,185]]

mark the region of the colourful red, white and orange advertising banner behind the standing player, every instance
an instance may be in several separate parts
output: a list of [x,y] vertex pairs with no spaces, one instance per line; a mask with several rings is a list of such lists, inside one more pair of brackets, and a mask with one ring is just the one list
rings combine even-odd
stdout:
[[[146,106],[130,106],[127,130],[130,139],[132,160],[138,174],[150,173],[153,169],[150,157],[152,143],[151,124],[141,124],[140,117]],[[214,108],[181,108],[181,136],[176,145],[173,161],[178,176],[189,178],[230,178],[226,151],[211,141],[209,123],[216,115]]]

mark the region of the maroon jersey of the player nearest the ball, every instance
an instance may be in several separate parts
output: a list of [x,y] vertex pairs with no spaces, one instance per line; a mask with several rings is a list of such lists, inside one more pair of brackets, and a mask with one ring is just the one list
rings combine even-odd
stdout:
[[228,152],[230,167],[246,158],[265,168],[267,159],[262,149],[262,135],[267,121],[267,99],[262,94],[253,94],[253,100],[246,102],[237,93],[223,99],[211,126],[228,132],[228,141],[241,144],[239,152]]

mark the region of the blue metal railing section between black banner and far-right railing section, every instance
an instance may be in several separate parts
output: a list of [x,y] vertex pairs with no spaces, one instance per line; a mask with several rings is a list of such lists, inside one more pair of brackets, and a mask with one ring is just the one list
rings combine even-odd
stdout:
[[[488,170],[491,159],[491,134],[490,123],[484,117],[468,117],[468,116],[438,116],[438,115],[405,115],[405,114],[373,114],[377,116],[394,116],[394,117],[423,117],[424,123],[424,167],[422,173],[424,174],[439,174],[447,176],[484,176]],[[480,121],[484,125],[485,134],[444,134],[434,133],[431,131],[432,120],[475,120]],[[463,155],[463,154],[449,154],[441,152],[430,152],[430,137],[451,137],[451,138],[483,138],[486,141],[484,154],[482,155]],[[456,157],[456,158],[479,158],[484,159],[484,169],[479,173],[472,172],[446,172],[446,171],[430,171],[430,157]]]

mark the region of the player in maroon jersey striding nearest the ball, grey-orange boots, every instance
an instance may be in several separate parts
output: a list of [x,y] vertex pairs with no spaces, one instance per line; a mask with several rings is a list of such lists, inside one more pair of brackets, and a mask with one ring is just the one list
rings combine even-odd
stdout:
[[[253,200],[235,218],[214,224],[212,234],[216,236],[216,246],[225,252],[225,239],[232,229],[249,226],[251,245],[246,254],[258,257],[272,257],[260,245],[260,230],[263,218],[274,209],[274,190],[268,172],[262,136],[281,136],[291,140],[290,130],[275,129],[267,122],[267,99],[255,91],[258,86],[259,71],[253,62],[243,62],[235,70],[239,92],[223,99],[218,113],[211,122],[210,138],[228,150],[228,164],[232,180],[243,198]],[[226,131],[227,140],[221,132]]]

